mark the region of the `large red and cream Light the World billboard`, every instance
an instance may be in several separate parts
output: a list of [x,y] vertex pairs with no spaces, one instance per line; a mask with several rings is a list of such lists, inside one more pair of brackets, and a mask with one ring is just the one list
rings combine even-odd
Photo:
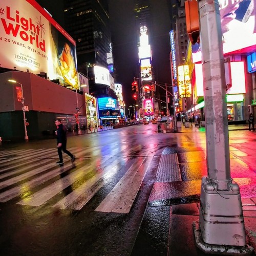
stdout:
[[1,0],[0,59],[8,69],[47,73],[78,88],[75,41],[34,0]]

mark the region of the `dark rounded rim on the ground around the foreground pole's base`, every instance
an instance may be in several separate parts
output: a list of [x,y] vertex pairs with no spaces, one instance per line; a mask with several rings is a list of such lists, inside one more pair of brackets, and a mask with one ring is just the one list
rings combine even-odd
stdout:
[[228,245],[212,245],[207,244],[202,239],[202,233],[199,227],[199,222],[193,222],[194,235],[196,246],[207,254],[222,254],[222,255],[251,255],[253,247],[245,246],[228,246]]

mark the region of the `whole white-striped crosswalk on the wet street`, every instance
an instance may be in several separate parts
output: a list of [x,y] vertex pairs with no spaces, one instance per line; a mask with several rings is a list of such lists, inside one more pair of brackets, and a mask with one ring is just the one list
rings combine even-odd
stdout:
[[150,150],[127,145],[68,150],[76,161],[64,154],[63,166],[56,165],[56,148],[0,151],[0,203],[81,210],[122,168],[123,176],[95,211],[129,213],[153,159]]

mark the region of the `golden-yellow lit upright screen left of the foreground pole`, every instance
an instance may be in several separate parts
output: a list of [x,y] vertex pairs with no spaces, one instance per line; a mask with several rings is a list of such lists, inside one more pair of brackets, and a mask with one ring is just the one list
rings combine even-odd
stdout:
[[181,98],[191,96],[191,81],[188,65],[178,67],[179,93]]

